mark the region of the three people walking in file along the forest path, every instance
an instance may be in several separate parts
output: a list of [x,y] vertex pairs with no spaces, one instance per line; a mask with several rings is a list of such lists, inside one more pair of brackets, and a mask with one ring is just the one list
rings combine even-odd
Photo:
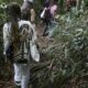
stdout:
[[[55,19],[57,0],[45,0],[41,19],[46,23]],[[45,13],[44,13],[45,12]],[[7,7],[9,21],[3,24],[3,55],[14,67],[15,88],[28,88],[30,79],[30,58],[40,62],[37,35],[35,31],[35,10],[33,0],[24,0],[22,7],[15,2]]]

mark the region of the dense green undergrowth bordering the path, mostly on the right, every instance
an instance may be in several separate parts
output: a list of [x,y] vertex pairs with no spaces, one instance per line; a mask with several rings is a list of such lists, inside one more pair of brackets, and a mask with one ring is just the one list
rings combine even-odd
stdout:
[[[38,0],[35,3],[38,4],[36,9],[38,14],[38,9],[42,7],[40,3],[43,2]],[[61,11],[64,13],[64,0],[58,0],[58,3],[63,7]],[[44,59],[32,66],[31,84],[33,84],[33,88],[88,88],[87,7],[88,1],[85,0],[84,12],[78,10],[77,14],[73,14],[72,11],[58,14],[58,28],[54,30],[53,42],[42,50]],[[7,18],[6,13],[0,9],[0,26],[6,22],[4,16]],[[2,30],[0,30],[0,34],[2,35]],[[0,38],[1,45],[2,37]],[[2,59],[1,47],[0,52]],[[0,67],[2,62],[0,62]]]

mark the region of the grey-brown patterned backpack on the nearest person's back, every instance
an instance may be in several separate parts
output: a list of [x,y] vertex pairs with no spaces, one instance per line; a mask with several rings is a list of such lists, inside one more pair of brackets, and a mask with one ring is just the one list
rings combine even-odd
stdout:
[[20,30],[19,30],[19,34],[21,34],[21,41],[19,42],[19,51],[20,53],[15,54],[15,58],[18,57],[18,59],[14,58],[15,63],[19,64],[26,64],[29,62],[29,58],[31,58],[31,52],[30,52],[30,40],[32,40],[32,30],[30,31],[30,37],[28,37],[28,33],[29,33],[29,25],[28,24],[23,24],[21,25]]

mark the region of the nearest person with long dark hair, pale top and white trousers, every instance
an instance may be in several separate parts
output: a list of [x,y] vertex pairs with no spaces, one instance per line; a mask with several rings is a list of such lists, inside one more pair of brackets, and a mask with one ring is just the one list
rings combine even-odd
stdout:
[[3,25],[3,55],[12,59],[15,87],[28,88],[30,58],[40,61],[35,30],[30,21],[21,20],[19,4],[11,3],[7,10],[9,21]]

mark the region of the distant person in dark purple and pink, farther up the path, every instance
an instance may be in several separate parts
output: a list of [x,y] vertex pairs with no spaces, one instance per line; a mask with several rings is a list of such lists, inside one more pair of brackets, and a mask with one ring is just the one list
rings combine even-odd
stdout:
[[53,0],[52,2],[50,0],[45,1],[44,10],[41,13],[41,18],[46,25],[43,32],[43,36],[48,35],[48,30],[52,25],[52,21],[55,20],[55,16],[57,14],[57,0]]

